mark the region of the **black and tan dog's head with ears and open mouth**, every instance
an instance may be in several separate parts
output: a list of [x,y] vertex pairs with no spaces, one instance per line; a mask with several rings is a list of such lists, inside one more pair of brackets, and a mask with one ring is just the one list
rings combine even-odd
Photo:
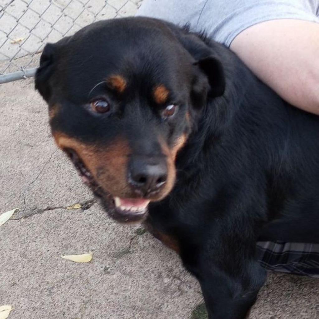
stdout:
[[47,44],[35,87],[48,103],[56,144],[83,181],[114,219],[138,221],[150,201],[172,190],[177,154],[225,81],[197,36],[125,18]]

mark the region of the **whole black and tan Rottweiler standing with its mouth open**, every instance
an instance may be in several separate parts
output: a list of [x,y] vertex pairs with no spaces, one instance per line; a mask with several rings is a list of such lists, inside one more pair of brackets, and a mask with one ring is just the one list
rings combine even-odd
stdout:
[[94,23],[41,56],[57,145],[118,221],[142,221],[242,319],[265,280],[257,240],[319,242],[319,117],[227,48],[148,18]]

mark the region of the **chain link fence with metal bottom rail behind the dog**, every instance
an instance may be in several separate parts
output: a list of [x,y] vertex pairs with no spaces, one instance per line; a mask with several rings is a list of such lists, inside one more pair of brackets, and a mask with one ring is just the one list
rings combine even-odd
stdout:
[[94,21],[132,16],[143,0],[0,0],[0,83],[32,77],[40,53]]

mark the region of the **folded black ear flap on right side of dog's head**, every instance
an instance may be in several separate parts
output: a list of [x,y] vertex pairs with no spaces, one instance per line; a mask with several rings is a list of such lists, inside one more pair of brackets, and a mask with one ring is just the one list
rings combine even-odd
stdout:
[[223,95],[226,88],[226,81],[221,62],[214,56],[208,56],[195,62],[194,65],[198,65],[208,79],[210,86],[208,96],[214,98]]

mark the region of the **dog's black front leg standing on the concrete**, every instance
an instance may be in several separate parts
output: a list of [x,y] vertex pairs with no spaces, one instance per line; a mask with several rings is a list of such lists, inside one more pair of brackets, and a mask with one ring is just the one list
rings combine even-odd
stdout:
[[244,319],[266,272],[254,258],[254,241],[234,229],[219,230],[203,244],[185,245],[182,260],[200,282],[209,319]]

